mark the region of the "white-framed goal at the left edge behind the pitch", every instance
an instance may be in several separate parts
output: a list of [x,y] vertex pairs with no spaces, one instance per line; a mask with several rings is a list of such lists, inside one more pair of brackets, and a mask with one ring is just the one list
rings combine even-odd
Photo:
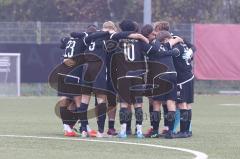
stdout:
[[0,52],[0,96],[21,95],[21,54]]

